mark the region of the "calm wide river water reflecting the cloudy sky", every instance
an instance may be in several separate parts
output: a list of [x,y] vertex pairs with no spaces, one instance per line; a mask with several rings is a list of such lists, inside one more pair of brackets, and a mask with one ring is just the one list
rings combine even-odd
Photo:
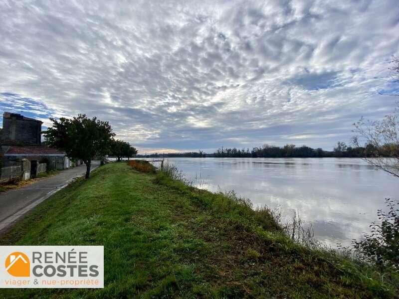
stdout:
[[[149,159],[151,160],[151,159]],[[369,232],[385,198],[399,199],[399,179],[358,158],[168,158],[209,191],[234,190],[254,207],[299,213],[314,236],[332,247]]]

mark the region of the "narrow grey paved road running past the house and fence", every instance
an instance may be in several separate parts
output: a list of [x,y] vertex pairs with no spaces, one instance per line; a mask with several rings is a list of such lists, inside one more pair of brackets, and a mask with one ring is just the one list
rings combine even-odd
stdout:
[[[98,167],[100,161],[92,161],[91,169]],[[61,171],[59,174],[39,180],[16,190],[0,193],[0,231],[9,226],[34,206],[62,189],[74,178],[86,173],[86,165]]]

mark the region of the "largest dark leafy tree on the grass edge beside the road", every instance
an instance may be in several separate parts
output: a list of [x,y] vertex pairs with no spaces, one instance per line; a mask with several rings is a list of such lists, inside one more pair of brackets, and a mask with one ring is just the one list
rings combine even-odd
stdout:
[[45,143],[52,148],[65,150],[66,154],[81,159],[86,164],[86,178],[90,176],[91,159],[95,155],[105,155],[115,134],[108,122],[89,119],[79,114],[72,119],[50,118],[52,127],[44,132]]

